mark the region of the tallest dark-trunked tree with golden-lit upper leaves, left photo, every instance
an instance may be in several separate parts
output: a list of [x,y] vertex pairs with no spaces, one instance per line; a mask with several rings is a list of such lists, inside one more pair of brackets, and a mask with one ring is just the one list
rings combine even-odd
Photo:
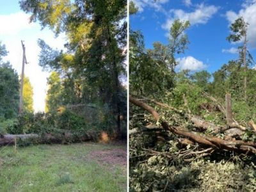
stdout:
[[118,136],[124,114],[120,77],[126,76],[126,6],[125,0],[20,1],[22,10],[32,13],[31,21],[39,20],[42,27],[49,26],[56,35],[65,32],[68,37],[72,62],[66,62],[65,54],[60,52],[51,54],[51,61],[42,60],[47,61],[43,65],[86,77],[102,103],[113,111]]

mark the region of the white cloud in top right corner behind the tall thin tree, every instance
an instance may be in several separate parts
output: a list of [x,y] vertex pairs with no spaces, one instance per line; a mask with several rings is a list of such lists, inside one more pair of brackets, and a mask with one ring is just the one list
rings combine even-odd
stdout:
[[251,48],[256,48],[256,1],[250,0],[243,3],[243,8],[239,10],[238,13],[233,11],[228,11],[226,13],[226,18],[231,24],[238,17],[243,17],[246,22],[248,22],[248,44]]

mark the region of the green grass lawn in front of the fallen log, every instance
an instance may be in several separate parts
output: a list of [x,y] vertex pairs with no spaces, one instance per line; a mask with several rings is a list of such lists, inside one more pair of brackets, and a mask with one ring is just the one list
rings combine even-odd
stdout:
[[84,143],[0,148],[0,191],[126,191],[126,167],[98,163],[93,150],[124,146]]

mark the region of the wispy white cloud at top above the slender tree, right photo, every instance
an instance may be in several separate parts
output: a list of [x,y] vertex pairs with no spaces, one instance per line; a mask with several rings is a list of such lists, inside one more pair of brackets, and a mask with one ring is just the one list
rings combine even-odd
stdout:
[[217,11],[218,7],[214,5],[205,6],[203,3],[198,4],[194,12],[184,12],[184,10],[170,10],[172,17],[166,20],[162,28],[169,31],[175,19],[189,20],[191,26],[195,24],[205,24]]

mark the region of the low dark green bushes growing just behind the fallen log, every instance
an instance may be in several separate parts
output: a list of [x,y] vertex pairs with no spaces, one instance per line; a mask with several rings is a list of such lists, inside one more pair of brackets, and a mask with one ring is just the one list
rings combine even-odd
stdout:
[[[83,133],[90,131],[90,126],[86,120],[76,113],[65,110],[62,113],[22,113],[17,120],[8,124],[6,132],[10,134],[24,133],[60,133],[65,131],[77,131]],[[62,130],[62,131],[61,131]]]

